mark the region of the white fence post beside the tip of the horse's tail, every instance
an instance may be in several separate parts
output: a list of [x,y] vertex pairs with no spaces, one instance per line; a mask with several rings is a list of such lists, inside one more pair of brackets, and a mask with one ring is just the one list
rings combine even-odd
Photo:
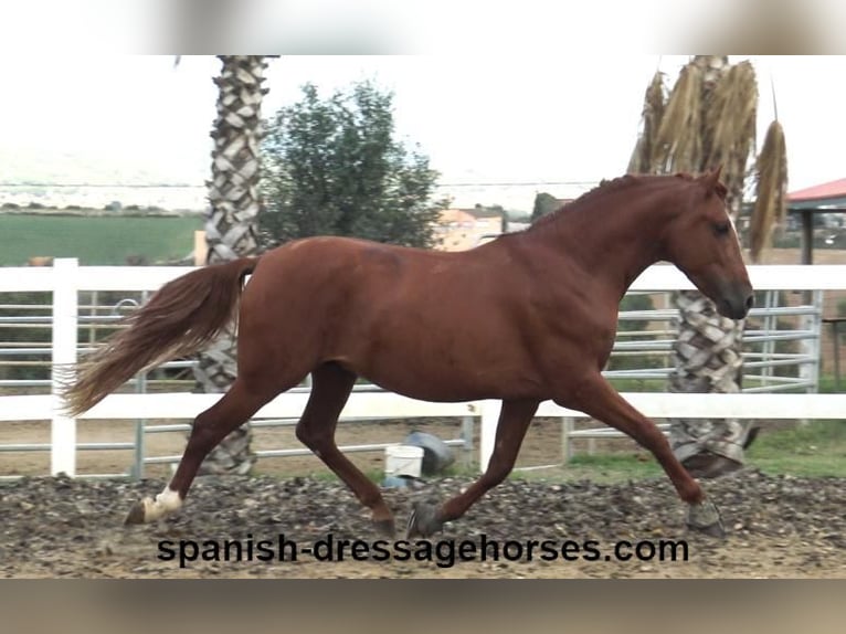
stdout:
[[62,410],[60,385],[72,379],[76,363],[76,324],[78,311],[78,261],[60,257],[53,261],[53,371],[51,394],[50,473],[76,475],[76,419]]

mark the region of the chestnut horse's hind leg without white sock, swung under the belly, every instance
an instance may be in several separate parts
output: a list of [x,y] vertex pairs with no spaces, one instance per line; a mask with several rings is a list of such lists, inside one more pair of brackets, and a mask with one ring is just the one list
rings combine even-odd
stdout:
[[297,438],[310,448],[356,497],[370,508],[376,527],[393,536],[393,515],[376,486],[345,456],[335,443],[338,416],[347,403],[356,374],[337,363],[325,363],[311,373],[311,395],[297,424]]

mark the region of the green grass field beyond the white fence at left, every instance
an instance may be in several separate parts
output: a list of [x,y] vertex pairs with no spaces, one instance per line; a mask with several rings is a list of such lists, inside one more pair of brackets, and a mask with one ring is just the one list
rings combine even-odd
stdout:
[[0,213],[0,266],[36,255],[78,257],[83,265],[149,264],[181,260],[193,249],[202,216],[84,216]]

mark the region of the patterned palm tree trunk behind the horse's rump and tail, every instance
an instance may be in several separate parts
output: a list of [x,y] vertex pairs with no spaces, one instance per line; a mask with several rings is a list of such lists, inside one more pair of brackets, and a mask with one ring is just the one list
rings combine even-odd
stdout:
[[[205,239],[207,264],[258,253],[256,218],[261,208],[258,141],[262,88],[267,63],[257,55],[221,55],[218,116],[211,137],[212,179]],[[198,390],[224,392],[235,379],[235,335],[226,332],[199,356],[194,368]],[[248,423],[229,434],[205,458],[201,474],[250,473],[255,463]]]

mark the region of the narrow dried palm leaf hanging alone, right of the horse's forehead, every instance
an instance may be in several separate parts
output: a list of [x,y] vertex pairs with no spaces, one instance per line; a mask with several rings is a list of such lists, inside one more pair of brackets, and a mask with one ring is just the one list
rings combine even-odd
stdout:
[[753,262],[770,243],[776,222],[787,213],[787,151],[784,130],[775,120],[770,124],[764,145],[755,161],[758,197],[750,226],[750,251]]

